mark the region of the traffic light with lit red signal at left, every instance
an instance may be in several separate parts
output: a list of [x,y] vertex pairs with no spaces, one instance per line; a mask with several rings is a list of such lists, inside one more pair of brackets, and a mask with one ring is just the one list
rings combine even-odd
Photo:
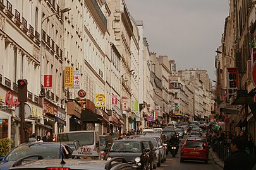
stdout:
[[26,79],[18,80],[18,101],[28,101],[28,81]]

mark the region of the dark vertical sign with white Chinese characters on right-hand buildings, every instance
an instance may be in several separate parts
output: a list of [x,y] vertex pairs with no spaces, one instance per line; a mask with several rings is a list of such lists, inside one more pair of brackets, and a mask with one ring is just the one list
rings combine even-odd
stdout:
[[231,96],[235,94],[238,89],[238,67],[229,67],[227,79],[228,79],[228,91],[227,91],[227,101],[230,101]]

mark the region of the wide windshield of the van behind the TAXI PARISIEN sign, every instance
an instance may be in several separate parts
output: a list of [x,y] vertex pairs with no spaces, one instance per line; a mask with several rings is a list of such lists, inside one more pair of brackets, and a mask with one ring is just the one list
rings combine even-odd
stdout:
[[61,133],[58,140],[61,142],[78,140],[83,146],[93,145],[94,132]]

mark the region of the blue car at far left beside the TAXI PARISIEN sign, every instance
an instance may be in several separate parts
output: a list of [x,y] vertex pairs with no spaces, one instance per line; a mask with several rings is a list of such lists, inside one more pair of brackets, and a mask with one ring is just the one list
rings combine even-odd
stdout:
[[[64,147],[61,147],[61,145]],[[44,159],[60,159],[71,158],[73,150],[66,144],[56,142],[34,142],[29,144],[20,144],[15,149],[11,150],[0,163],[0,169],[9,169],[13,166],[16,160],[22,157],[37,155]],[[68,154],[66,154],[66,151]],[[24,161],[39,159],[39,157],[30,157]]]

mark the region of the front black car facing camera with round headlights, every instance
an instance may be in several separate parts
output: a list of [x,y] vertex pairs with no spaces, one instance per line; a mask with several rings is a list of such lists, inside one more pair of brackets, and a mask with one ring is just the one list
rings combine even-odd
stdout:
[[106,157],[107,161],[114,157],[123,157],[135,169],[148,169],[150,164],[149,154],[147,153],[149,151],[141,140],[116,140]]

